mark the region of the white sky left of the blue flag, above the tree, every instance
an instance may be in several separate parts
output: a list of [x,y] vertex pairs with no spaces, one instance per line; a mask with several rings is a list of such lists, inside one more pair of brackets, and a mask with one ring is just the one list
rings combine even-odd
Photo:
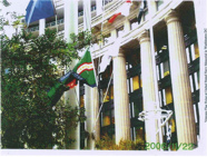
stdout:
[[[1,8],[2,8],[1,13],[9,20],[11,20],[11,18],[7,14],[7,12],[16,11],[18,13],[18,16],[26,14],[26,8],[27,8],[29,1],[30,0],[8,0],[10,6],[9,7],[1,6]],[[6,35],[8,37],[11,37],[12,33],[14,32],[14,29],[11,26],[6,27],[4,29],[6,29]]]

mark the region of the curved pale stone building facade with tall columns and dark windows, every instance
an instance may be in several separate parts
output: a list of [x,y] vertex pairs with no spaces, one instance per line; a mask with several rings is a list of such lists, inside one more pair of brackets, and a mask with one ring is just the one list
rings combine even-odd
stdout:
[[[105,37],[91,48],[99,88],[81,84],[76,88],[79,105],[76,100],[73,105],[86,108],[87,120],[73,133],[77,141],[72,148],[95,149],[95,140],[105,135],[114,137],[116,144],[120,140],[167,143],[169,127],[170,143],[196,147],[201,51],[196,1],[147,0],[140,23],[137,16],[142,1],[131,1],[129,16],[120,14],[112,23],[107,22],[125,3],[124,0],[91,1],[91,28],[97,37],[101,33]],[[67,37],[68,9],[76,12],[73,32],[83,30],[83,1],[76,1],[73,8],[62,0],[56,0],[55,4],[58,20],[46,19],[46,28],[58,29],[59,36]],[[29,31],[38,36],[39,22],[33,22]],[[119,55],[100,73],[97,65],[117,38],[121,39]],[[172,116],[156,134],[160,120],[154,114],[159,108],[171,110]],[[152,118],[138,120],[141,111],[149,111]]]

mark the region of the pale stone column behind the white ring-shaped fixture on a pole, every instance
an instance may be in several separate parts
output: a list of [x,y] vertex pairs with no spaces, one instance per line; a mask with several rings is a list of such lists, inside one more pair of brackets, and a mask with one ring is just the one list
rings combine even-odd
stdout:
[[[149,32],[144,31],[138,37],[140,43],[141,55],[141,79],[142,79],[142,97],[144,97],[144,110],[155,110],[156,106],[156,91],[154,84],[154,69],[152,69],[152,56],[150,49]],[[157,143],[156,128],[157,120],[155,112],[150,111],[150,117],[145,120],[146,128],[146,141]]]

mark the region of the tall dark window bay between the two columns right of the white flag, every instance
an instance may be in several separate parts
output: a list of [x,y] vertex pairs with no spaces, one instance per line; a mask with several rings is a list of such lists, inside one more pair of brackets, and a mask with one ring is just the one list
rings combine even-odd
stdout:
[[140,67],[140,49],[131,50],[126,56],[127,84],[129,94],[129,110],[130,110],[130,131],[132,140],[144,140],[145,130],[142,124],[137,124],[138,115],[142,111],[142,82],[141,82],[141,67]]

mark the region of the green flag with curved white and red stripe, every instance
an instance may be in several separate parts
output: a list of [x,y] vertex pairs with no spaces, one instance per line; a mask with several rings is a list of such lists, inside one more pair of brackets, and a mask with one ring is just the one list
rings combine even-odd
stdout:
[[86,84],[90,87],[96,87],[96,78],[93,72],[93,63],[90,56],[89,48],[86,50],[83,57],[72,69],[73,72],[86,79]]

